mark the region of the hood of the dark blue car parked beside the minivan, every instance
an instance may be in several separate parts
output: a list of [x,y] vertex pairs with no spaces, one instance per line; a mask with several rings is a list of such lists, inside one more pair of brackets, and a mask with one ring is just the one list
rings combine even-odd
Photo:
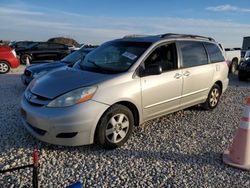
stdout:
[[41,72],[41,71],[48,71],[58,67],[65,66],[66,64],[61,61],[55,61],[53,63],[39,63],[39,64],[32,64],[30,65],[27,70],[31,72]]

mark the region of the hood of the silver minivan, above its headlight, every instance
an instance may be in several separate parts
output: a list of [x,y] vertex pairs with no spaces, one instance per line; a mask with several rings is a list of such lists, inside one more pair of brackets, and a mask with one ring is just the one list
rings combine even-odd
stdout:
[[35,79],[31,83],[30,90],[36,95],[54,99],[71,90],[95,85],[111,77],[112,75],[65,67],[64,69],[51,71]]

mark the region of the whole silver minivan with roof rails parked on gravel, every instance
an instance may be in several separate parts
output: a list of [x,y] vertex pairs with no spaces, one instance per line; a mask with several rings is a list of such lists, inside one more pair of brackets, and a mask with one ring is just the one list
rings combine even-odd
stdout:
[[197,104],[214,109],[227,86],[228,66],[214,39],[133,35],[33,80],[21,114],[42,141],[113,149],[150,119]]

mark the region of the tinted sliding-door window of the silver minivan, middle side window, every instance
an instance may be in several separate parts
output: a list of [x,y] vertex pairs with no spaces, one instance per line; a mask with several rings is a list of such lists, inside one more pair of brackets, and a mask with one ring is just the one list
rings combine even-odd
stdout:
[[208,57],[201,42],[182,41],[179,42],[182,53],[182,67],[194,67],[208,64]]

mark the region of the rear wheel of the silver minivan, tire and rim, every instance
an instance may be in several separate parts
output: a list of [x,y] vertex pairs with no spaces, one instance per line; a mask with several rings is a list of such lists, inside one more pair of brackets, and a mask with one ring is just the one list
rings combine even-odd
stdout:
[[213,110],[218,106],[221,96],[221,88],[218,84],[214,84],[211,90],[208,93],[208,97],[205,103],[203,103],[202,107],[205,110]]

